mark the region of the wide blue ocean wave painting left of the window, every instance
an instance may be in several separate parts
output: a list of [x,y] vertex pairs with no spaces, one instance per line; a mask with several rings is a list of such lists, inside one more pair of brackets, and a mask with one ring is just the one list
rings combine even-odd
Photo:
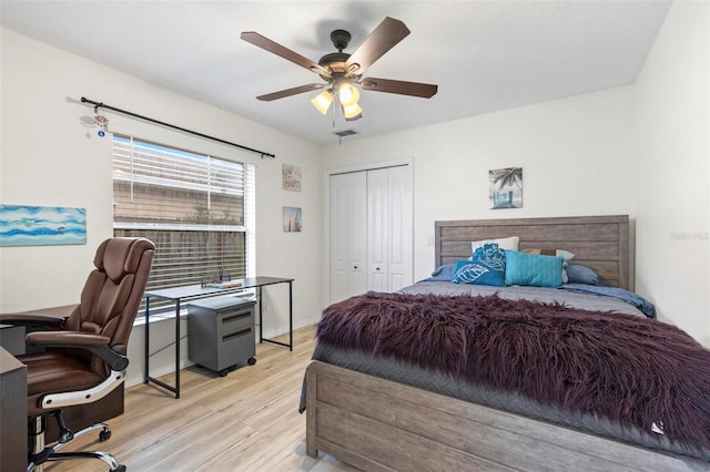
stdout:
[[87,244],[87,208],[0,205],[0,247]]

